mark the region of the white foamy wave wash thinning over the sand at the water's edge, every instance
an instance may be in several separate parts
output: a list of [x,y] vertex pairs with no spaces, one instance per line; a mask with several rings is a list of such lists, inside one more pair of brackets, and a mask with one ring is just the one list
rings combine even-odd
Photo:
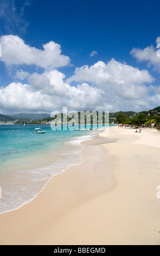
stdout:
[[56,160],[49,166],[20,170],[16,174],[4,176],[1,182],[0,214],[17,210],[31,202],[54,176],[63,173],[71,166],[82,163],[81,142],[92,139],[93,136],[95,133],[75,137],[68,141],[70,147],[65,151],[55,153]]

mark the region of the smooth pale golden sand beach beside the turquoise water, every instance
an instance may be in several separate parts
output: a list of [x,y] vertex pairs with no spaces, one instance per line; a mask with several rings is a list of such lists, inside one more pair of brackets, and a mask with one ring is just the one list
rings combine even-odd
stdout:
[[84,163],[0,215],[0,244],[159,245],[160,134],[134,131],[114,126],[84,142]]

